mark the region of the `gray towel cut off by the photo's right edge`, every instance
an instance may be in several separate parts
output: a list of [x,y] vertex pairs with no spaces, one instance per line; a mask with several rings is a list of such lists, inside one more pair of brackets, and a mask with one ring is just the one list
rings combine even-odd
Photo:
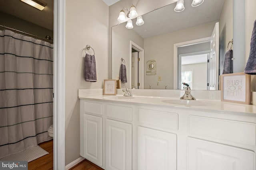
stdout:
[[250,55],[244,68],[244,73],[256,75],[256,20],[252,29],[252,38],[250,44]]

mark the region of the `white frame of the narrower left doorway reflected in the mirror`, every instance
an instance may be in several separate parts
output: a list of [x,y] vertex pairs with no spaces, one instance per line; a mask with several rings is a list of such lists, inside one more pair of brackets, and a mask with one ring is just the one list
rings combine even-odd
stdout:
[[[130,41],[130,66],[132,66],[132,49],[135,49],[138,51],[138,57],[140,58],[140,62],[138,64],[139,66],[139,82],[140,82],[140,89],[144,89],[144,49],[134,43],[133,41]],[[130,69],[130,82],[129,87],[132,87],[132,69]]]

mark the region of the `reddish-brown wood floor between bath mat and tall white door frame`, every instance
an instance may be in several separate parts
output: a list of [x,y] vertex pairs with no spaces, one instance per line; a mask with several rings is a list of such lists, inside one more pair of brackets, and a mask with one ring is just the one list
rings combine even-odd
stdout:
[[39,146],[49,154],[28,162],[28,170],[53,170],[53,140],[40,143]]

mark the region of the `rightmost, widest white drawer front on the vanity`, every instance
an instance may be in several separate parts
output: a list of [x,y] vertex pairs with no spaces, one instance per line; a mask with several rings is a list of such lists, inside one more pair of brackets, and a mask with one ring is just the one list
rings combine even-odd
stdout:
[[189,116],[189,133],[255,146],[254,123]]

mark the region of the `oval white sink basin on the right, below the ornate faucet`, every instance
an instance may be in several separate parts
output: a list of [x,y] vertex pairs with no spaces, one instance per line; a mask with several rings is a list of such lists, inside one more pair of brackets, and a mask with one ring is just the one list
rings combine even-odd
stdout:
[[169,103],[169,104],[179,104],[179,105],[186,105],[186,106],[212,106],[214,103],[210,102],[203,102],[198,100],[162,100],[162,102]]

